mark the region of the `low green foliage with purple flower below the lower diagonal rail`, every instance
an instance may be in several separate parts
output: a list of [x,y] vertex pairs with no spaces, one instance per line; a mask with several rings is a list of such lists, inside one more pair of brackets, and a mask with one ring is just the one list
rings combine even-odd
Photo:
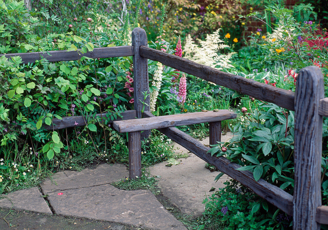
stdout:
[[197,229],[289,229],[290,217],[272,212],[266,201],[236,181],[204,199],[205,212]]

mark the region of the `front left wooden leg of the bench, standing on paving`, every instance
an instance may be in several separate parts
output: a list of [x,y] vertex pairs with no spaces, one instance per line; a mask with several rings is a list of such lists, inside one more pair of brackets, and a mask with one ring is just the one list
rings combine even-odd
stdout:
[[141,133],[129,132],[129,176],[131,180],[141,177]]

